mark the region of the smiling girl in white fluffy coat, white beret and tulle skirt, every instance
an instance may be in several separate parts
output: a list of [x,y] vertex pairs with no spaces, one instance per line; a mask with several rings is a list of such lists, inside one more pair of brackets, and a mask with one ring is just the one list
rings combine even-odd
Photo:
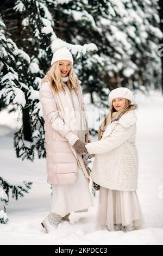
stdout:
[[98,131],[98,142],[85,145],[95,154],[91,177],[100,186],[97,221],[110,231],[140,228],[137,198],[138,156],[135,146],[137,105],[127,88],[110,92],[110,111]]

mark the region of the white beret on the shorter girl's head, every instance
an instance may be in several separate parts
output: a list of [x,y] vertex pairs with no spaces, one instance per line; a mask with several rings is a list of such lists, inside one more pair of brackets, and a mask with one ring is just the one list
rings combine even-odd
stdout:
[[108,97],[110,105],[112,103],[112,100],[115,99],[116,97],[123,97],[125,99],[130,100],[131,104],[134,104],[134,95],[126,87],[119,87],[114,90],[111,90],[109,97]]

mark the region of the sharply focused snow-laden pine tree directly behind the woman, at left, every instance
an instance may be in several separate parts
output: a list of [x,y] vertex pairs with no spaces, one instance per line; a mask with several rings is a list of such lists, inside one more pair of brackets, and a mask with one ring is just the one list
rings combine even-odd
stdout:
[[[14,10],[23,17],[21,22],[22,31],[26,32],[22,32],[22,41],[25,41],[26,44],[22,44],[21,49],[16,46],[11,38],[5,38],[4,30],[1,34],[3,65],[0,97],[8,104],[12,103],[21,107],[22,111],[24,108],[29,109],[32,141],[30,143],[24,141],[23,125],[14,135],[16,154],[22,160],[29,159],[33,161],[36,153],[39,158],[46,156],[39,86],[41,78],[45,75],[45,71],[51,63],[51,42],[57,39],[53,30],[53,19],[46,3],[45,0],[16,1]],[[60,41],[57,44],[60,46]],[[63,44],[65,43],[63,42]],[[95,44],[84,46],[66,44],[66,46],[76,56],[97,50]]]

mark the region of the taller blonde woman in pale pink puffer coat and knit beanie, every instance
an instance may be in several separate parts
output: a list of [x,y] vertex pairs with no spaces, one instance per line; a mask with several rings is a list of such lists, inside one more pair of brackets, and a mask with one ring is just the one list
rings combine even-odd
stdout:
[[66,47],[55,51],[39,92],[45,120],[47,182],[52,184],[51,212],[41,223],[47,232],[61,220],[69,220],[70,212],[93,205],[81,155],[86,153],[89,131],[82,88],[72,65],[72,54]]

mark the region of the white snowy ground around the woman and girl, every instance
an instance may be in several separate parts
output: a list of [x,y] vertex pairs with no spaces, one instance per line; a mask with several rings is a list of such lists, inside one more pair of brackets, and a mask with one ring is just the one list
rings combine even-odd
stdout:
[[41,220],[50,209],[51,190],[46,183],[45,160],[34,163],[16,159],[12,133],[16,116],[0,112],[0,175],[11,181],[30,180],[34,184],[24,198],[10,198],[8,224],[0,224],[1,245],[163,245],[163,97],[152,92],[136,95],[137,149],[139,151],[139,189],[137,191],[146,220],[142,230],[123,233],[98,230],[95,206],[89,212],[73,213],[70,223],[45,234]]

